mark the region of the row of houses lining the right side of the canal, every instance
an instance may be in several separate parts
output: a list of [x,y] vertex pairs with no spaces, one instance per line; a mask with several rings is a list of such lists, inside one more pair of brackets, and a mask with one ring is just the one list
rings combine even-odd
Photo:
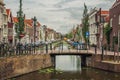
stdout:
[[[95,7],[90,10],[88,15],[89,44],[97,45],[98,48],[109,45],[109,47],[113,48],[114,46],[117,49],[120,46],[120,0],[116,0],[109,10]],[[110,26],[109,43],[107,42],[107,37],[104,32],[104,29],[108,25]],[[77,39],[78,27],[82,30],[83,26],[80,24],[73,29],[74,41],[79,41],[79,39]],[[82,31],[80,33],[82,34]],[[85,42],[83,37],[81,42]]]

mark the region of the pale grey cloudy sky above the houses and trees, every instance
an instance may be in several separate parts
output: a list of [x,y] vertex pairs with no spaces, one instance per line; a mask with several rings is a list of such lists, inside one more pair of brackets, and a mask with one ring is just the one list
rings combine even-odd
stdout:
[[[98,7],[109,10],[115,0],[23,0],[23,12],[27,18],[37,17],[42,25],[66,33],[80,24],[84,3],[88,9]],[[4,0],[14,16],[19,10],[19,0]]]

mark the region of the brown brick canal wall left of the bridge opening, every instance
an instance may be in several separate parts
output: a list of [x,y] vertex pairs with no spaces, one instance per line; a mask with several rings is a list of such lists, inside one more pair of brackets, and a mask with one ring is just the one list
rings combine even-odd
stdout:
[[52,66],[49,54],[23,55],[0,59],[0,80]]

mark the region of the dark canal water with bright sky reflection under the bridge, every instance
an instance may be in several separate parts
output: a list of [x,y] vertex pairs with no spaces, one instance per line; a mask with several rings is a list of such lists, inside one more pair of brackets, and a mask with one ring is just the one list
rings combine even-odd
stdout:
[[120,80],[119,73],[81,67],[80,56],[56,56],[55,70],[61,72],[32,72],[12,80]]

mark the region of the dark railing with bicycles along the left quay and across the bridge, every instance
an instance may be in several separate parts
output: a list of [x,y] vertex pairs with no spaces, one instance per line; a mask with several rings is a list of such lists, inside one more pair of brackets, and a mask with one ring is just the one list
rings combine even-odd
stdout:
[[[63,46],[63,43],[61,44]],[[80,53],[82,51],[90,52],[90,50],[85,50],[82,47],[80,48],[72,48],[68,46],[67,49],[63,47],[58,48],[57,50],[54,49],[53,43],[47,44],[20,44],[18,43],[15,46],[12,46],[8,43],[0,43],[0,57],[11,57],[11,56],[21,56],[21,55],[31,55],[31,54],[47,54],[47,53]],[[95,50],[92,50],[92,53],[95,53]]]

